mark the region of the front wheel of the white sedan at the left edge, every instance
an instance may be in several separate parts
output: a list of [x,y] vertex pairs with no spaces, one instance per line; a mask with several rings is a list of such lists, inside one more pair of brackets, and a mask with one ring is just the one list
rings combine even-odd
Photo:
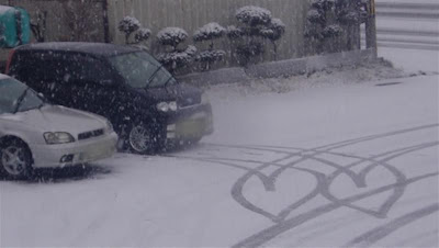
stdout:
[[22,180],[32,176],[32,154],[27,146],[19,140],[0,145],[0,173],[8,179]]

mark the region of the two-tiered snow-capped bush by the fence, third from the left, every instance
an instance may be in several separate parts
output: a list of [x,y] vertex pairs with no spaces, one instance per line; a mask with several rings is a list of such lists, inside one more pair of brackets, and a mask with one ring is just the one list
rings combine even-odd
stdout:
[[216,22],[209,23],[193,34],[193,40],[195,42],[209,42],[209,49],[201,52],[196,57],[195,61],[203,64],[203,69],[211,69],[211,64],[221,61],[226,55],[224,50],[215,50],[215,40],[224,36],[226,29]]

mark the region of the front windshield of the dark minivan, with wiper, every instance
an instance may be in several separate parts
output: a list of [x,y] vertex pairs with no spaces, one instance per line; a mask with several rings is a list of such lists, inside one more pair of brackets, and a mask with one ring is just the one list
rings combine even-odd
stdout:
[[133,88],[160,88],[177,83],[172,75],[145,52],[117,55],[111,57],[110,63]]

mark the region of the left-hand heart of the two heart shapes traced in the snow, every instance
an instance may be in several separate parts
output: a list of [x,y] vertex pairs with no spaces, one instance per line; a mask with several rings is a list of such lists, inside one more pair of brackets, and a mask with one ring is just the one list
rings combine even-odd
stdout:
[[307,170],[307,169],[303,169],[303,168],[284,168],[282,171],[284,171],[285,169],[292,169],[292,170],[301,171],[301,172],[304,172],[304,173],[311,173],[316,179],[316,187],[308,194],[306,194],[305,196],[299,199],[296,202],[294,202],[291,205],[286,206],[285,208],[283,208],[279,213],[277,213],[277,214],[275,213],[270,213],[269,211],[257,206],[256,204],[251,203],[243,194],[244,187],[254,177],[258,178],[259,181],[263,184],[263,189],[266,190],[266,192],[277,192],[277,187],[275,185],[277,185],[277,179],[278,179],[277,176],[278,174],[275,174],[275,173],[271,174],[270,177],[267,177],[266,174],[263,174],[259,170],[250,171],[249,173],[247,173],[246,176],[240,178],[235,183],[235,185],[234,185],[234,188],[232,190],[233,198],[240,205],[243,205],[245,208],[247,208],[249,211],[252,211],[252,212],[258,213],[258,214],[260,214],[262,216],[266,216],[266,217],[270,218],[271,221],[273,221],[275,223],[283,222],[290,215],[290,213],[292,211],[299,208],[300,206],[302,206],[303,204],[307,203],[309,200],[312,200],[316,195],[318,195],[319,192],[320,192],[320,190],[319,190],[319,185],[322,184],[320,182],[325,180],[325,174],[323,174],[320,172],[317,172],[317,171]]

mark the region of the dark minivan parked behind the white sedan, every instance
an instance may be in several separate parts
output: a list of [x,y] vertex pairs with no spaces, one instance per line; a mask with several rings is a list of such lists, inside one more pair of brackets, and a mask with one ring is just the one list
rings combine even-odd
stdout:
[[41,43],[11,52],[7,74],[56,104],[109,119],[120,148],[157,153],[213,133],[212,106],[148,53],[100,43]]

